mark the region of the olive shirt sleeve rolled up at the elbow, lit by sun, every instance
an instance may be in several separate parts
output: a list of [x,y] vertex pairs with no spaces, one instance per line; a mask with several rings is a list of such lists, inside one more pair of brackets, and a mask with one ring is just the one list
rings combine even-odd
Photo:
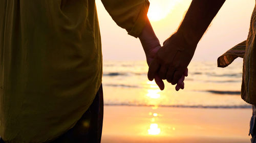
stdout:
[[101,0],[113,20],[128,32],[138,37],[146,21],[150,2],[148,0]]

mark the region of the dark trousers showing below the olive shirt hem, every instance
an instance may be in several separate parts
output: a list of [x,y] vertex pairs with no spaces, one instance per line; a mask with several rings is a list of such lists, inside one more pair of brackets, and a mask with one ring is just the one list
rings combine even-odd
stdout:
[[[49,143],[100,143],[103,123],[102,85],[96,97],[76,125]],[[0,143],[5,143],[0,138]]]

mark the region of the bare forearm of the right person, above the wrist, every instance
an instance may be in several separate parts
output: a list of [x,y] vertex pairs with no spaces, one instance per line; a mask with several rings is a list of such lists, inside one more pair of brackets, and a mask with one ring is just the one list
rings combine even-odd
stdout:
[[197,45],[224,2],[193,0],[177,33],[182,34],[188,44]]

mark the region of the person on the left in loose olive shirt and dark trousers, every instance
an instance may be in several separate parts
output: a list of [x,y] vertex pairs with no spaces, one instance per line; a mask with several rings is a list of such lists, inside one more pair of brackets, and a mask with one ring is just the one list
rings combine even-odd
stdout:
[[[102,3],[140,38],[150,64],[160,44],[146,16],[149,2]],[[0,0],[0,142],[100,142],[101,76],[94,0]]]

